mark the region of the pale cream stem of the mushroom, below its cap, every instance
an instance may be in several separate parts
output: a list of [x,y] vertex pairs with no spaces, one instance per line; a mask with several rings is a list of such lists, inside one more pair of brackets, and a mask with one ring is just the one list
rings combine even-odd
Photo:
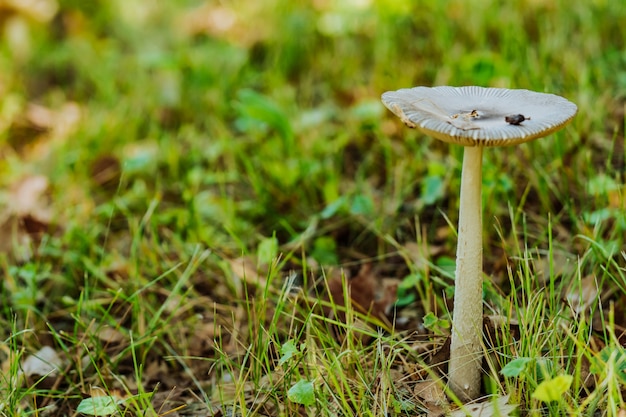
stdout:
[[463,401],[480,394],[482,345],[482,146],[465,147],[461,174],[458,246],[449,382]]

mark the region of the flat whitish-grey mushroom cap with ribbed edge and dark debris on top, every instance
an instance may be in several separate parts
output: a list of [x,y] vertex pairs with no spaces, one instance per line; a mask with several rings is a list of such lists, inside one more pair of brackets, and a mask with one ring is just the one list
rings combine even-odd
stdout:
[[[578,108],[563,97],[485,87],[415,87],[388,91],[385,106],[411,128],[464,146],[509,146],[559,130]],[[505,120],[523,116],[519,124]]]

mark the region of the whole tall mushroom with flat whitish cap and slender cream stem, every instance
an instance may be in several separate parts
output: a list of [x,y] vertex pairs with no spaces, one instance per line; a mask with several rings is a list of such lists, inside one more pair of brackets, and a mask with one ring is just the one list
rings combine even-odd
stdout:
[[569,123],[577,107],[554,94],[475,86],[401,89],[382,101],[408,127],[465,146],[448,382],[458,398],[472,400],[480,394],[482,360],[483,147],[547,136]]

